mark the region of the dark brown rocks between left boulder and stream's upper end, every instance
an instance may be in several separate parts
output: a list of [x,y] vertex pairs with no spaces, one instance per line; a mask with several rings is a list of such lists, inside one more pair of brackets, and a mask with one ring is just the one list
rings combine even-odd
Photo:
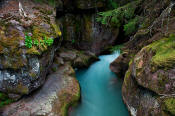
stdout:
[[65,63],[69,63],[74,68],[86,68],[97,60],[99,60],[98,57],[91,52],[60,48],[56,52],[50,73],[55,72]]

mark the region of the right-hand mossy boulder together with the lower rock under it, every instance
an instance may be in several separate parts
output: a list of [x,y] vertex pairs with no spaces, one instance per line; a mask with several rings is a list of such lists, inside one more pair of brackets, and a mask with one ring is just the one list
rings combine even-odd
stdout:
[[131,114],[174,115],[174,41],[160,39],[137,53],[125,74],[123,99]]

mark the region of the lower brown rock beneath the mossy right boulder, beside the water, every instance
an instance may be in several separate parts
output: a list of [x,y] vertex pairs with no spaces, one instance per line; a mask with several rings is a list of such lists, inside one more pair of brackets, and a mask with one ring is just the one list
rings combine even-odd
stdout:
[[137,84],[130,69],[127,71],[122,86],[122,96],[132,116],[163,116],[158,95]]

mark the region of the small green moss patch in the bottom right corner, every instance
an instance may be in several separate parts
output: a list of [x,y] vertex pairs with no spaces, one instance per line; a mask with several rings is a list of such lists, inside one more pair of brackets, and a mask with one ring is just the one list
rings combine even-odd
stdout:
[[164,100],[164,110],[171,115],[175,115],[175,98],[168,98]]

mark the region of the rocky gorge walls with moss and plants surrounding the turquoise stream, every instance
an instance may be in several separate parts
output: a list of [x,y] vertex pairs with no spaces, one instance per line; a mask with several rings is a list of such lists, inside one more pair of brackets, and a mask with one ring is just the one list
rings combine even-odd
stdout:
[[116,49],[121,54],[110,69],[123,79],[130,115],[175,115],[174,6],[174,0],[1,0],[0,116],[68,115],[81,99],[75,69]]

